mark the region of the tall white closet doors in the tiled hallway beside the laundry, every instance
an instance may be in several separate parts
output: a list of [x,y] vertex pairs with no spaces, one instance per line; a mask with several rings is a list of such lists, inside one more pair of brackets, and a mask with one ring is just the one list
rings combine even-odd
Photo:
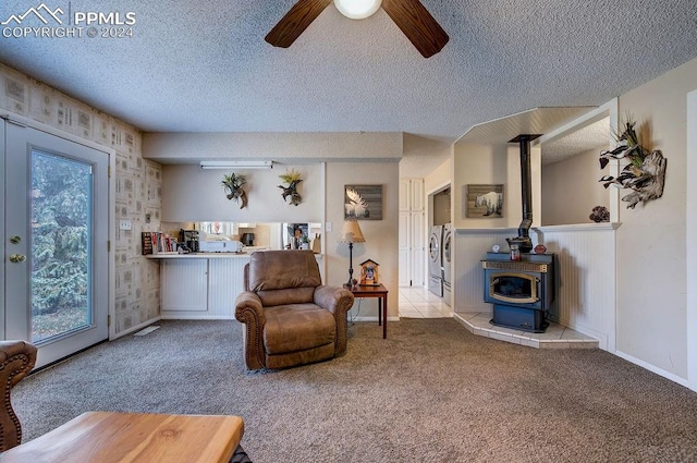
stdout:
[[399,258],[401,287],[426,283],[424,179],[400,179]]

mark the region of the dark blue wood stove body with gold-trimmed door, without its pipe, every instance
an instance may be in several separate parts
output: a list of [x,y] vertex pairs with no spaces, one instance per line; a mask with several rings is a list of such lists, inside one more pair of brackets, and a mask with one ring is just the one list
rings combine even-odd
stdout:
[[487,253],[484,300],[493,304],[491,324],[530,332],[545,332],[554,302],[554,255]]

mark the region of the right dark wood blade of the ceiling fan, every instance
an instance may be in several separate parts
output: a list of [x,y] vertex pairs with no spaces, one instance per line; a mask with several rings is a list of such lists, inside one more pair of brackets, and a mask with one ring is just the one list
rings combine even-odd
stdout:
[[424,58],[438,53],[450,40],[419,0],[382,0],[382,9]]

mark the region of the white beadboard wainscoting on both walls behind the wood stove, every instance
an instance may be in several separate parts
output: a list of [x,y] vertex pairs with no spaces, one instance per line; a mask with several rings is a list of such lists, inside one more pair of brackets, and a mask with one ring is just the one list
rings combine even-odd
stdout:
[[[559,288],[555,312],[560,325],[598,339],[615,351],[615,226],[610,223],[542,227],[530,230],[533,244],[557,254]],[[455,234],[455,313],[487,312],[480,260],[491,246],[508,249],[516,230],[457,230]]]

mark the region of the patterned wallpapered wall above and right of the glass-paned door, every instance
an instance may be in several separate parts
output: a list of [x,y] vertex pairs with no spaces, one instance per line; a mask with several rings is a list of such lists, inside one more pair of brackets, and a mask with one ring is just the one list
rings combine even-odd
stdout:
[[[115,150],[117,240],[115,336],[124,334],[159,315],[159,265],[140,256],[140,232],[160,227],[160,165],[146,160],[140,132],[32,77],[0,64],[0,109],[24,115],[80,138]],[[149,218],[149,219],[147,219]],[[118,229],[130,220],[129,231]]]

